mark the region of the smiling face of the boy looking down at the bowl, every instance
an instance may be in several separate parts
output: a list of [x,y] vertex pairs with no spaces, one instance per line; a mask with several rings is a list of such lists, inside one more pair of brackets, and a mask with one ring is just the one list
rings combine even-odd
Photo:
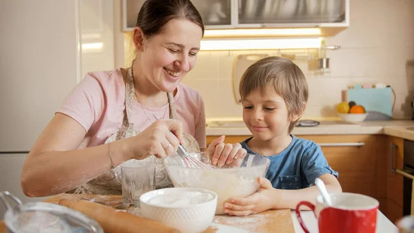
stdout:
[[255,138],[266,141],[288,136],[288,109],[274,90],[267,88],[264,95],[260,90],[252,91],[242,104],[244,123]]

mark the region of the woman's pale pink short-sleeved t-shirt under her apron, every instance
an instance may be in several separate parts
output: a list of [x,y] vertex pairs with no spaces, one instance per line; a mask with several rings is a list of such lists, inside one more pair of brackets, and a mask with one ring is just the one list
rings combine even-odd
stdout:
[[[206,148],[206,115],[201,95],[193,88],[179,84],[174,99],[184,133],[193,136],[200,148]],[[168,119],[170,111],[167,106],[149,108],[135,101],[129,121],[134,123],[136,131],[143,131],[150,126],[150,120],[155,121],[154,115],[158,119],[163,116]],[[121,70],[116,69],[88,73],[70,91],[57,112],[70,116],[85,128],[87,133],[79,148],[86,148],[102,145],[121,128],[124,109],[125,83]]]

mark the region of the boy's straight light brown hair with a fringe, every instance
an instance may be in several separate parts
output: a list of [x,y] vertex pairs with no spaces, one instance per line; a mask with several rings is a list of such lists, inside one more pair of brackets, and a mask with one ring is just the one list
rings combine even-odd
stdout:
[[[284,57],[266,57],[249,66],[242,75],[239,92],[242,100],[252,91],[266,93],[266,88],[273,85],[277,95],[284,98],[288,109],[288,118],[300,116],[308,102],[308,84],[304,73],[289,59]],[[297,119],[299,120],[299,118]],[[290,122],[289,133],[297,122]]]

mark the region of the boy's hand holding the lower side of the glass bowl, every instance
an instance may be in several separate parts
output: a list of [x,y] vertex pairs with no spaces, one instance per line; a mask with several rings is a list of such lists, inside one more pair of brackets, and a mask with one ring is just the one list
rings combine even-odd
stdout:
[[228,215],[246,216],[257,214],[267,209],[272,209],[274,200],[277,200],[277,189],[272,187],[270,181],[259,177],[259,189],[246,198],[231,198],[230,202],[224,203],[224,212]]

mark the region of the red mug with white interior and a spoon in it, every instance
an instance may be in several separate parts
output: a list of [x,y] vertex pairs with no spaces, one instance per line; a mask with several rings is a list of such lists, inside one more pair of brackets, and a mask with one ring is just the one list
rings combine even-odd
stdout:
[[380,205],[375,198],[362,194],[329,194],[331,206],[324,203],[322,196],[317,196],[316,205],[302,201],[296,206],[296,216],[304,232],[309,233],[300,207],[311,208],[318,222],[319,233],[375,233],[377,226],[377,209]]

